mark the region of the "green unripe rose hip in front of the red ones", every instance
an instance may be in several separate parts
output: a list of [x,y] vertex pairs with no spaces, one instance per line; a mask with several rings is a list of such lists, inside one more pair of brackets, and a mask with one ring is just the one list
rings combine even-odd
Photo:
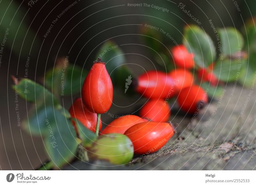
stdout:
[[131,140],[117,133],[99,136],[87,150],[90,160],[102,159],[116,165],[129,163],[133,157]]

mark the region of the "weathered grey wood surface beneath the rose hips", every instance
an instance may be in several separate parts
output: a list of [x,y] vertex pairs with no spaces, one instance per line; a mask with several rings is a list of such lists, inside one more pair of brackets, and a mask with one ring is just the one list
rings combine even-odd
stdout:
[[173,112],[177,133],[158,152],[134,157],[126,166],[78,161],[66,169],[256,170],[255,102],[253,89],[229,85],[196,118]]

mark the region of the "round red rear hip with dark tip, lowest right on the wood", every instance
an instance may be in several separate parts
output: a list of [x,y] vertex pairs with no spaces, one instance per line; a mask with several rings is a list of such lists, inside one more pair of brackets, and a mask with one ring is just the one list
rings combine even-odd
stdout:
[[[200,102],[202,103],[199,106]],[[180,108],[191,114],[198,111],[198,109],[203,108],[203,103],[207,102],[208,97],[206,92],[197,85],[182,89],[178,96],[178,104],[180,105]]]

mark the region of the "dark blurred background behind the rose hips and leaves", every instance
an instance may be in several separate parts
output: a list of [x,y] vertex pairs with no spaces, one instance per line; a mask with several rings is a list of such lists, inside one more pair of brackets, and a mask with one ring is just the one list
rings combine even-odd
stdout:
[[[72,3],[73,6],[70,6]],[[144,6],[131,7],[128,3],[154,4],[169,12]],[[54,66],[57,57],[69,56],[70,63],[90,68],[100,46],[107,40],[114,41],[124,51],[125,62],[130,64],[133,74],[159,68],[151,52],[143,46],[145,36],[141,35],[141,29],[145,23],[160,27],[170,33],[177,43],[182,43],[184,26],[195,24],[195,21],[178,7],[179,3],[186,5],[184,9],[201,21],[200,26],[212,36],[213,41],[209,19],[215,27],[242,30],[244,22],[256,14],[255,0],[0,1],[0,43],[6,29],[9,29],[0,65],[0,169],[33,169],[47,159],[42,139],[27,134],[17,126],[11,75],[24,77],[28,57],[28,78],[40,84],[45,71]],[[53,24],[58,15],[60,18]],[[51,32],[45,38],[51,24]],[[164,38],[168,48],[174,45],[169,38]],[[79,94],[64,97],[64,107],[68,109],[76,97]],[[110,112],[131,113],[134,108],[125,106],[134,100],[114,96]],[[136,107],[140,102],[134,105]],[[21,120],[27,117],[30,107],[19,98]],[[102,120],[109,123],[113,118],[103,115]]]

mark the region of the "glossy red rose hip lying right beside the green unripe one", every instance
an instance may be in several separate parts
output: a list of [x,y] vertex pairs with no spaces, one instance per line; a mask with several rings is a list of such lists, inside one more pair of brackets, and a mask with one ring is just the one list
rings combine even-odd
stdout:
[[158,151],[173,136],[170,123],[138,123],[125,131],[124,135],[132,141],[135,154],[150,154]]

